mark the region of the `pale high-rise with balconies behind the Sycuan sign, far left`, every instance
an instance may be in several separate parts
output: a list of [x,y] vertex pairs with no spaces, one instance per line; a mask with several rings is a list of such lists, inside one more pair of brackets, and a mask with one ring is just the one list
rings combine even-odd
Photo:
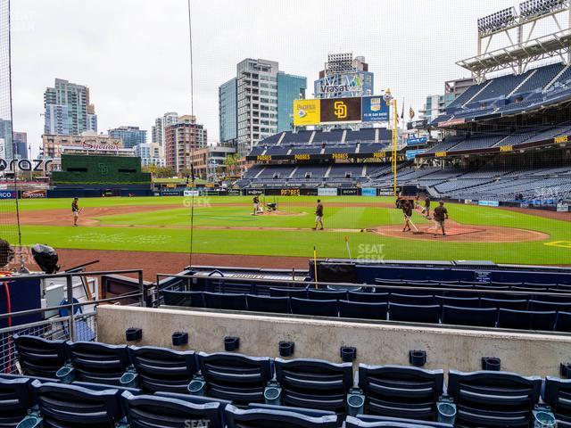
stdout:
[[89,88],[62,78],[44,92],[44,133],[59,136],[79,136],[85,131],[97,131],[95,107],[89,103]]

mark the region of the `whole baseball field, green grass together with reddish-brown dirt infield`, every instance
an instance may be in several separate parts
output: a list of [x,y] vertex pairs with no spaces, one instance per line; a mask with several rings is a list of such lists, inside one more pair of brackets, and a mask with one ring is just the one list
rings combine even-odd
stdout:
[[[447,236],[419,210],[418,233],[402,232],[393,198],[321,197],[325,230],[312,230],[315,196],[261,198],[277,211],[252,215],[252,198],[194,198],[197,254],[319,258],[492,260],[496,263],[571,265],[571,213],[446,203]],[[22,243],[82,251],[188,253],[191,198],[82,199],[79,226],[70,200],[21,200]],[[436,202],[432,203],[434,209]],[[347,247],[347,243],[349,244]],[[232,259],[232,258],[228,258]],[[278,265],[278,263],[277,263]]]

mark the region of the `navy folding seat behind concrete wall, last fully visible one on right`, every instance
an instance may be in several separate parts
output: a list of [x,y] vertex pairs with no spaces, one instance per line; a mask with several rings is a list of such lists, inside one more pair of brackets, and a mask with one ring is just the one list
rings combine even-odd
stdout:
[[529,426],[542,379],[509,372],[451,370],[448,394],[457,406],[458,426]]

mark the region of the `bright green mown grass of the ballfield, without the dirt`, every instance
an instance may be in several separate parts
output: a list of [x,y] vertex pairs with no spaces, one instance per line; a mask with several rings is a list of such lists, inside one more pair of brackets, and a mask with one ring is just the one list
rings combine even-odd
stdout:
[[[447,204],[451,219],[459,223],[536,230],[550,235],[545,241],[527,243],[453,243],[442,239],[413,241],[360,233],[361,228],[401,224],[400,210],[385,208],[378,203],[393,202],[393,198],[359,196],[320,198],[325,204],[327,228],[354,229],[339,232],[307,229],[313,226],[316,199],[316,197],[280,197],[277,200],[280,210],[294,215],[253,217],[250,215],[252,210],[250,197],[196,198],[194,225],[220,228],[194,229],[194,251],[310,257],[315,246],[319,257],[344,258],[347,257],[344,242],[346,236],[349,239],[352,257],[361,259],[486,259],[498,263],[571,264],[571,224],[534,216],[534,211],[523,214],[489,207]],[[273,197],[266,197],[267,202],[273,200]],[[22,239],[25,244],[47,243],[56,248],[187,252],[190,246],[190,230],[180,226],[190,224],[188,202],[188,199],[178,197],[83,199],[80,203],[84,207],[140,206],[142,211],[98,217],[101,226],[23,226]],[[332,202],[335,202],[335,206],[328,205]],[[336,206],[341,203],[342,206]],[[144,212],[144,206],[164,206],[164,209]],[[69,210],[69,207],[70,200],[21,201],[23,211]],[[419,215],[415,215],[413,219],[417,223],[426,222]],[[269,229],[223,228],[256,226]],[[304,230],[279,230],[279,227],[302,227]]]

